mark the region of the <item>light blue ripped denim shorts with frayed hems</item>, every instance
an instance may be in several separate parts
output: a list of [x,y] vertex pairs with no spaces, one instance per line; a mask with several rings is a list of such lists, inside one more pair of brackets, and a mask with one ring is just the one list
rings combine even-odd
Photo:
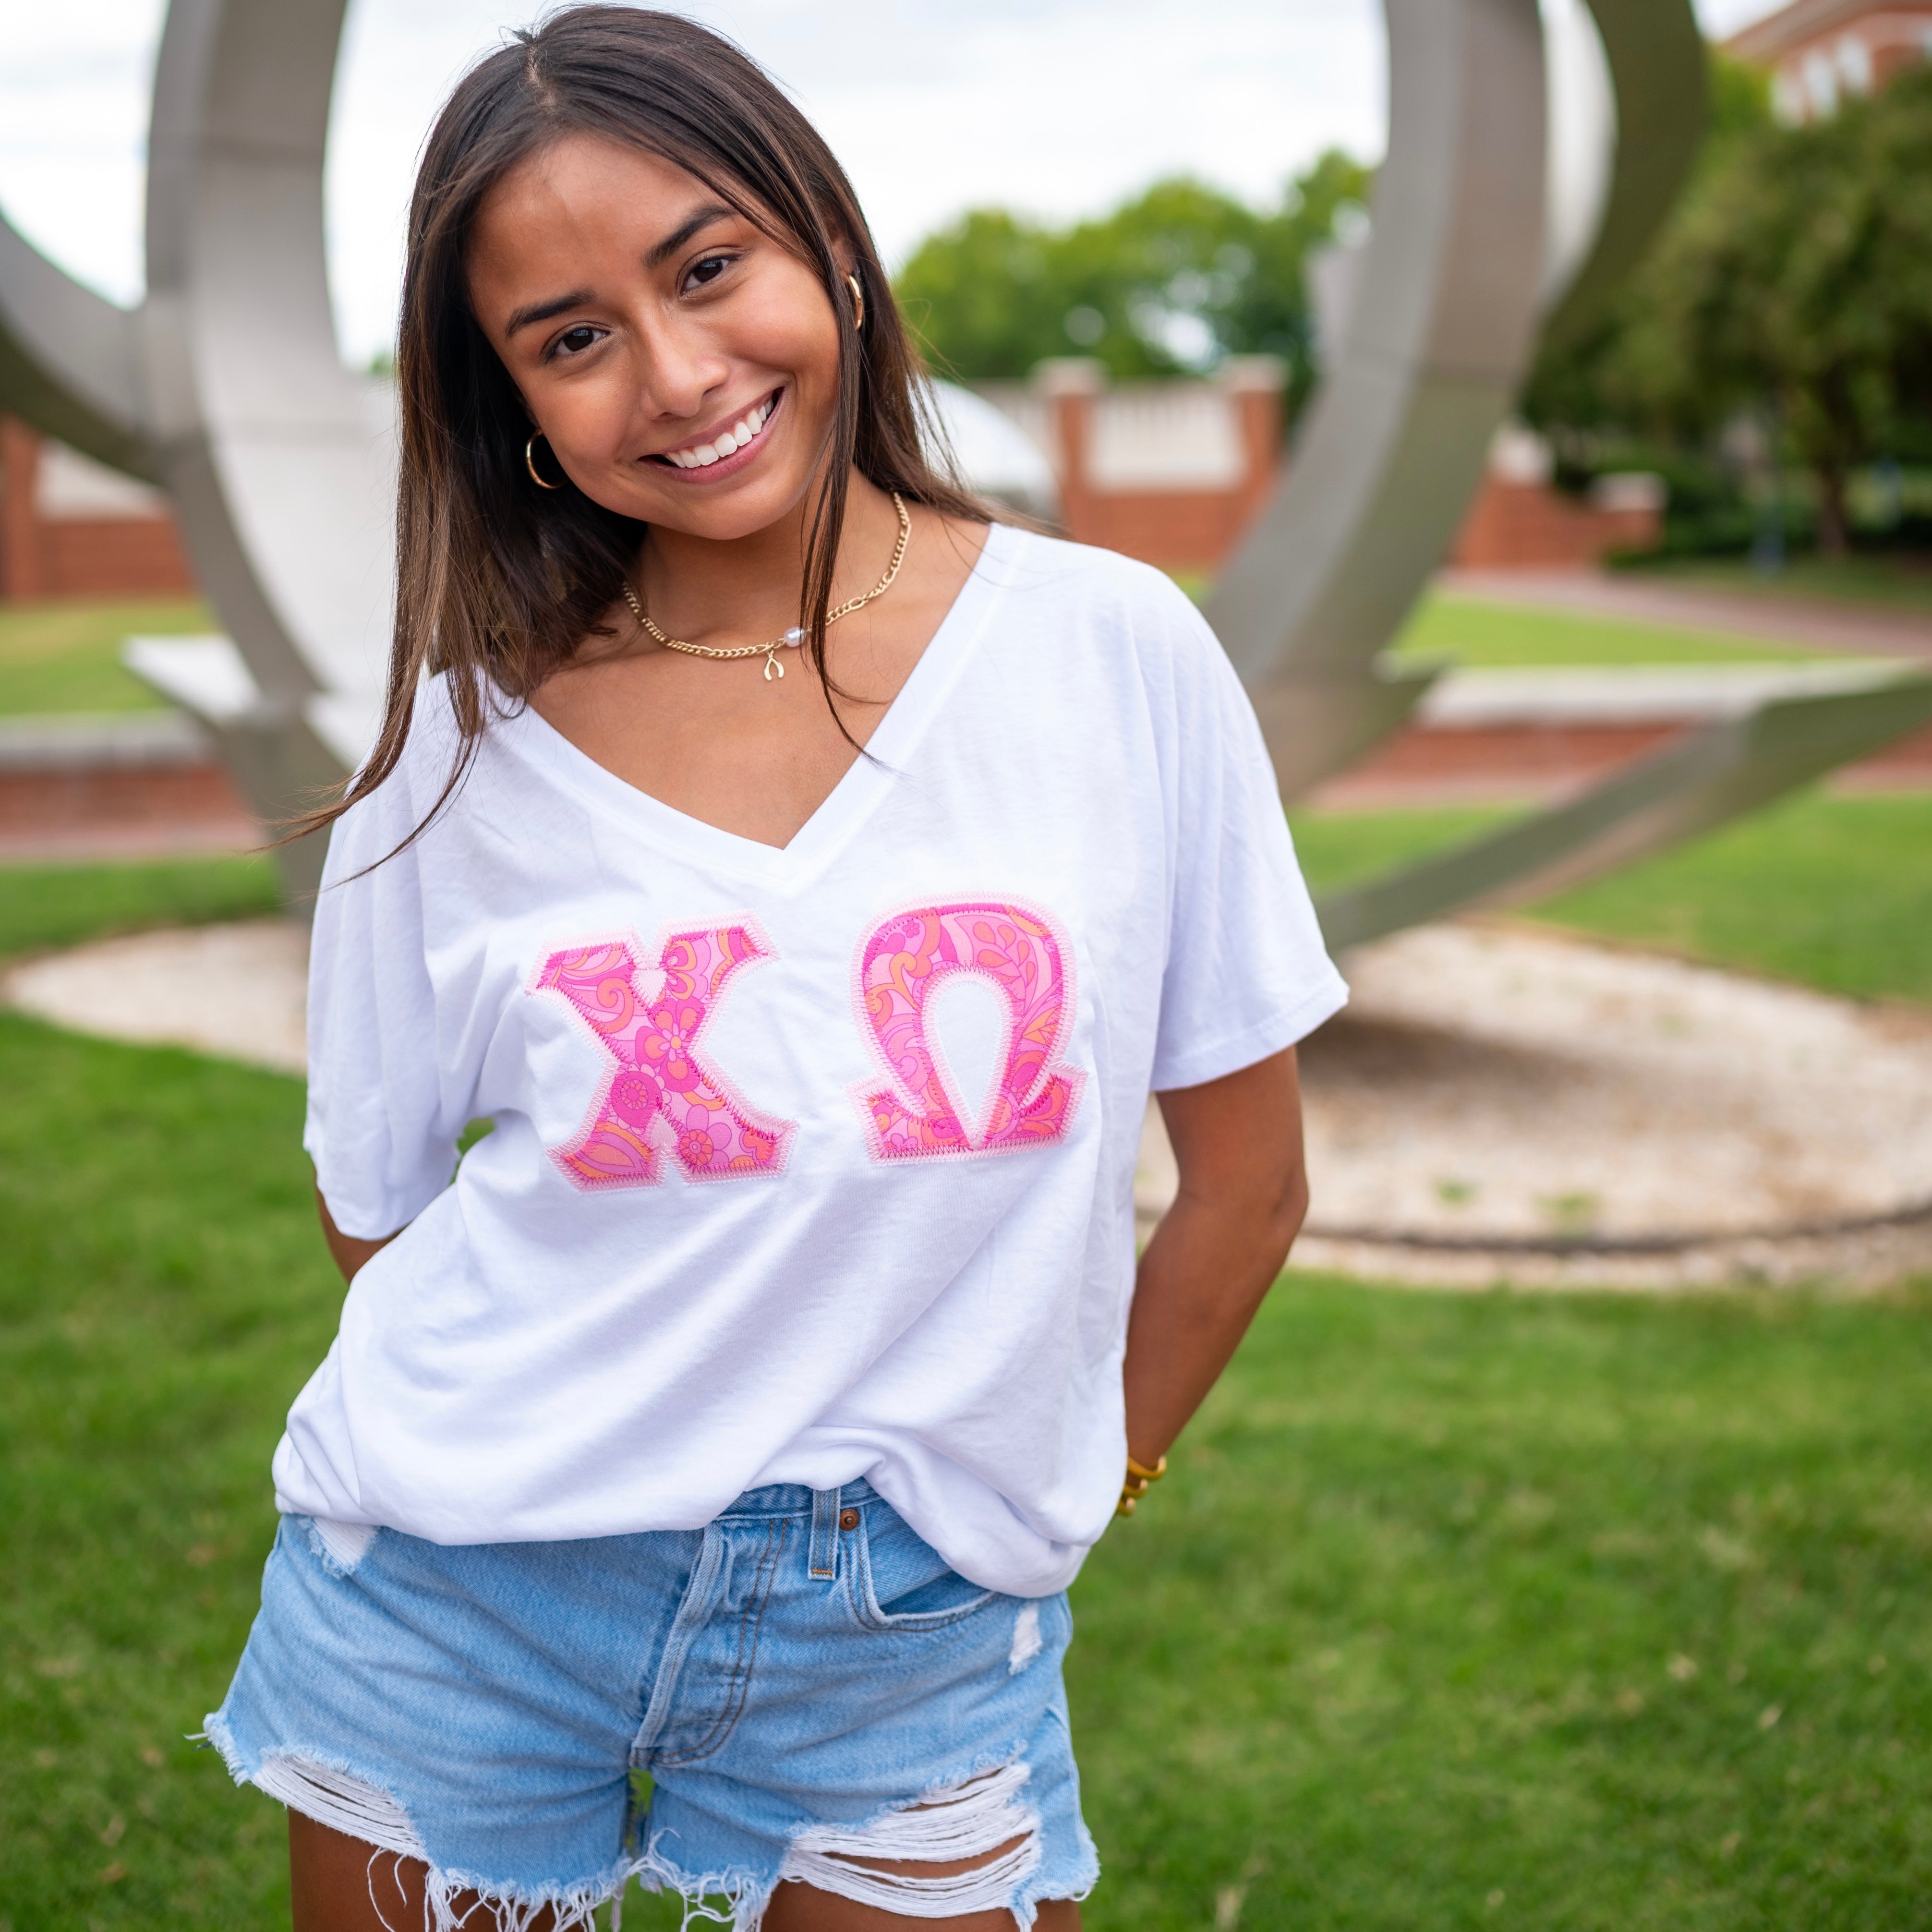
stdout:
[[537,1905],[589,1926],[632,1874],[738,1932],[790,1878],[1030,1926],[1099,1870],[1070,1634],[1065,1594],[981,1590],[862,1482],[566,1544],[284,1517],[207,1735],[238,1783],[421,1859],[439,1928],[466,1891],[485,1901],[471,1928]]

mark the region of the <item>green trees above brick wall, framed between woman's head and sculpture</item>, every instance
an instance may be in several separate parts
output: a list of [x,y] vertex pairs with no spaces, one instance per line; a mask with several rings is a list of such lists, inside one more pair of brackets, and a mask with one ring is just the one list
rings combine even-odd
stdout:
[[1281,355],[1291,396],[1312,386],[1302,269],[1370,174],[1323,155],[1273,211],[1188,178],[1119,209],[1043,228],[978,209],[927,236],[895,284],[937,367],[1026,377],[1049,355],[1095,355],[1117,379]]

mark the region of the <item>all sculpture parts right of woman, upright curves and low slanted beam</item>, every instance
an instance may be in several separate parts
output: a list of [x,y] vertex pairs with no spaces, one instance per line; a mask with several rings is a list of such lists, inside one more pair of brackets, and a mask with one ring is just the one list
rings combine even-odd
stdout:
[[[1208,618],[1267,734],[1283,796],[1401,726],[1439,667],[1379,653],[1447,554],[1538,340],[1567,336],[1642,255],[1704,133],[1687,0],[1588,0],[1617,104],[1596,236],[1544,270],[1544,39],[1536,0],[1385,0],[1389,156],[1339,367]],[[1549,301],[1548,321],[1540,309]],[[1932,719],[1932,680],[1777,699],[1551,811],[1320,898],[1335,947],[1536,898],[1725,823]]]

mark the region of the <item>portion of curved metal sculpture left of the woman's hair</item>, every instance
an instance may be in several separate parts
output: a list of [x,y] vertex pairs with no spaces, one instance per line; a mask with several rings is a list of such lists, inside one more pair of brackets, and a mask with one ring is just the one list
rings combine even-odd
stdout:
[[[325,278],[344,10],[172,0],[137,311],[79,288],[0,218],[0,402],[168,491],[240,661],[189,643],[135,668],[201,717],[270,825],[361,757],[394,582],[386,404],[342,367]],[[321,858],[288,848],[292,896]]]

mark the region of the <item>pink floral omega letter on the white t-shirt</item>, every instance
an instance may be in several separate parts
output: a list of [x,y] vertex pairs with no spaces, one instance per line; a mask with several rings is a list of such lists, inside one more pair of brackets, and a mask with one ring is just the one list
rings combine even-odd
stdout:
[[[1045,914],[1001,900],[900,912],[860,943],[856,972],[862,1026],[893,1076],[852,1090],[875,1161],[1016,1153],[1065,1138],[1086,1074],[1059,1063],[1074,972]],[[962,1095],[925,1032],[933,989],[956,972],[983,974],[1007,999],[1007,1055],[978,1126],[960,1121]]]

